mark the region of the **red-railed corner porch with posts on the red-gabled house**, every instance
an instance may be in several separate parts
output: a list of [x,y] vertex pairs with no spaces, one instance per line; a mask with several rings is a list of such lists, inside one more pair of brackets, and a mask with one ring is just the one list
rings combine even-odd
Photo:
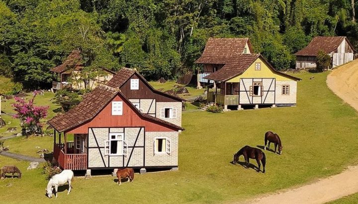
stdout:
[[[64,134],[65,142],[61,143],[61,134],[59,141],[56,142],[56,132],[54,138],[54,159],[63,169],[86,170],[87,169],[87,153],[77,149],[75,142],[67,142],[66,134]],[[83,149],[83,148],[82,148]]]

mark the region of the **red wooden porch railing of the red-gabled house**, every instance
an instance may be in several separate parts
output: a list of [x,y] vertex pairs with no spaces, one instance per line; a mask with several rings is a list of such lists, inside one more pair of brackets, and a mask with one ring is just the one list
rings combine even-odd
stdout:
[[[63,147],[64,144],[54,144],[54,157],[63,169],[71,170],[86,170],[87,169],[87,154],[73,154],[73,142],[68,142],[67,152],[72,151],[71,153],[65,154],[64,150],[60,147]],[[71,147],[71,148],[69,148]]]

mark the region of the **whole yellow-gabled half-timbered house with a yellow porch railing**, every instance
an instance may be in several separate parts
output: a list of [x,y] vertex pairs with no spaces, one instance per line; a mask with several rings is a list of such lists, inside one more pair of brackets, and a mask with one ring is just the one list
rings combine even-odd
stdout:
[[[204,77],[218,84],[215,91],[208,89],[208,102],[238,110],[242,106],[296,105],[297,81],[301,79],[275,70],[260,54],[237,54],[215,60],[223,66]],[[209,63],[213,62],[210,59]]]

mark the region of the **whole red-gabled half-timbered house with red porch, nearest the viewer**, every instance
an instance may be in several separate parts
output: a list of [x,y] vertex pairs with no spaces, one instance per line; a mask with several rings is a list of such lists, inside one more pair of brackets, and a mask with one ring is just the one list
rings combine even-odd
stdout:
[[54,128],[54,158],[63,169],[87,170],[87,176],[92,169],[178,169],[183,128],[144,113],[119,88],[99,85],[48,123]]

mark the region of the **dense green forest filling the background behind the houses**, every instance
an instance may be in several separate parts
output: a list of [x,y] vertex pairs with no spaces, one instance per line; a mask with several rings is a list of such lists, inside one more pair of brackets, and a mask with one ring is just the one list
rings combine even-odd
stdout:
[[249,37],[276,69],[314,36],[358,35],[354,0],[0,0],[0,74],[26,86],[75,48],[84,64],[149,79],[193,72],[209,37]]

